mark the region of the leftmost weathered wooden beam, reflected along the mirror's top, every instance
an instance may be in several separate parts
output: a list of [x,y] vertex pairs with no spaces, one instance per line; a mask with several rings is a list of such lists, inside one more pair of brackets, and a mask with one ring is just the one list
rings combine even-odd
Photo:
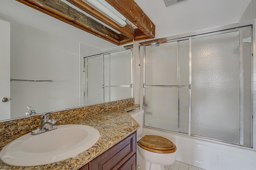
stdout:
[[[120,43],[120,34],[112,31],[108,27],[102,25],[98,21],[86,16],[82,12],[71,8],[66,3],[61,0],[17,0],[27,6],[30,6],[40,12],[48,14],[58,20],[64,21],[70,25],[73,25],[79,29],[82,29],[88,33],[92,33],[97,37],[105,39],[116,45],[122,45]],[[132,42],[132,39],[128,37],[123,37],[123,39],[128,39],[127,41]]]

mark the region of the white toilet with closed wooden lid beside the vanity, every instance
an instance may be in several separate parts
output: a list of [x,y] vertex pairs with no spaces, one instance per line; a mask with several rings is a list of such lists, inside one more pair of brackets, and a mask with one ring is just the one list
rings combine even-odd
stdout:
[[141,162],[137,161],[137,169],[141,170],[164,170],[164,165],[173,164],[176,159],[176,146],[172,141],[156,136],[142,134],[143,110],[132,110],[128,112],[139,124],[137,130],[137,157],[142,157],[145,167],[140,167]]

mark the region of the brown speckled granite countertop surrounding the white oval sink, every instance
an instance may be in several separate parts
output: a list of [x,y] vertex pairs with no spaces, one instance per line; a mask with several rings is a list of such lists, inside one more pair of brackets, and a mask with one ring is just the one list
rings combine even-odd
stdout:
[[0,160],[0,169],[77,170],[128,137],[140,126],[124,109],[95,114],[69,124],[92,126],[100,132],[100,139],[90,149],[64,161],[40,166],[18,167],[8,166]]

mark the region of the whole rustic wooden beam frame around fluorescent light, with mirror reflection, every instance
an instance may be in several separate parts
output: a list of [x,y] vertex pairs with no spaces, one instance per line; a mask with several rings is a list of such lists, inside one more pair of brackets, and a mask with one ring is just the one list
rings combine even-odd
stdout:
[[[134,2],[134,0],[106,0],[116,10],[118,10],[124,17],[126,17],[136,27],[127,24],[121,27],[108,17],[95,10],[83,0],[66,0],[70,4],[80,8],[84,12],[90,14],[99,21],[113,28],[110,29],[102,23],[90,18],[83,12],[72,8],[62,0],[16,0],[27,6],[30,6],[40,12],[52,16],[58,20],[64,21],[88,33],[96,35],[106,41],[116,45],[123,45],[130,43],[133,40],[144,40],[155,37],[155,25],[144,14],[141,8]],[[118,33],[120,32],[120,33]]]

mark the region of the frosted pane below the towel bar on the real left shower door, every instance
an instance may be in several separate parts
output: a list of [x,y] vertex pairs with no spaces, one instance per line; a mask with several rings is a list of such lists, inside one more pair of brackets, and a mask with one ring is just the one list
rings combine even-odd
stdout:
[[145,89],[145,125],[169,131],[178,131],[178,89]]

